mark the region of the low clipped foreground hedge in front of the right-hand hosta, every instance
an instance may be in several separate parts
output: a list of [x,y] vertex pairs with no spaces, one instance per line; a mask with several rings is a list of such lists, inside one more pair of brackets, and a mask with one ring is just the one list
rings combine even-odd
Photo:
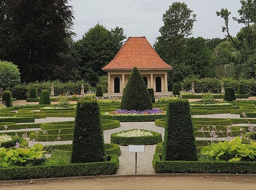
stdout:
[[155,173],[256,173],[256,162],[162,161],[159,143],[153,157]]

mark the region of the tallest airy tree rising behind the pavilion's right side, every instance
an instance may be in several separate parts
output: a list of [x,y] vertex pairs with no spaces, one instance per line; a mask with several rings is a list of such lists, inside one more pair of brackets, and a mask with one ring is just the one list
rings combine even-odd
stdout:
[[163,26],[159,29],[161,36],[157,37],[154,48],[160,57],[174,70],[169,73],[169,88],[173,82],[192,74],[190,66],[181,62],[181,55],[185,45],[185,39],[192,34],[196,14],[185,3],[175,2],[163,14]]

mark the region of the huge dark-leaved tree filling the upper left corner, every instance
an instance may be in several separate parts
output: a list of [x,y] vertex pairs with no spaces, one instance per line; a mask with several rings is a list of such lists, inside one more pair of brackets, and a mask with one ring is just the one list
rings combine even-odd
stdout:
[[18,65],[22,81],[69,79],[73,19],[68,0],[1,0],[0,59]]

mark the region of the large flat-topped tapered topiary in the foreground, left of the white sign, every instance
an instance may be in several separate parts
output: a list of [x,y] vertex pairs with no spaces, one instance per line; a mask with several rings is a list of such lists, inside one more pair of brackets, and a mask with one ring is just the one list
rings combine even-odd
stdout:
[[73,135],[72,163],[104,161],[104,139],[96,101],[78,102]]

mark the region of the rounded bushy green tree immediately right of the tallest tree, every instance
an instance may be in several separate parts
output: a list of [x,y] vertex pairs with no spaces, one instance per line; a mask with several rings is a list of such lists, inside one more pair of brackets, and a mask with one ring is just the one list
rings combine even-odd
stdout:
[[191,65],[193,74],[206,77],[207,67],[211,60],[211,51],[207,48],[203,37],[189,38],[183,48],[182,62]]

